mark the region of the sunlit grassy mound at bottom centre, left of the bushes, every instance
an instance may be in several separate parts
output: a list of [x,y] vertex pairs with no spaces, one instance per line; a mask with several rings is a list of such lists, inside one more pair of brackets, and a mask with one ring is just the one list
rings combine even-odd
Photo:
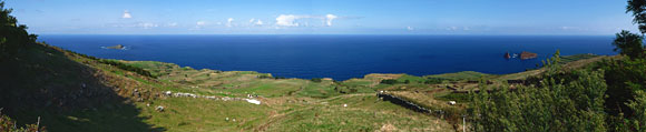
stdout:
[[[417,113],[373,94],[336,97],[285,114],[268,131],[452,131],[450,124],[434,116]],[[348,106],[343,106],[348,104]]]

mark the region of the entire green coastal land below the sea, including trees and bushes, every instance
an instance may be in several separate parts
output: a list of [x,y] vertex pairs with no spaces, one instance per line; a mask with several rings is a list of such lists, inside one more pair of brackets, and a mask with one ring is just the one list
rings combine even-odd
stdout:
[[[645,31],[646,2],[629,4]],[[545,67],[512,74],[368,74],[334,81],[98,59],[36,42],[10,12],[0,2],[0,131],[43,131],[31,124],[39,116],[40,126],[65,132],[646,130],[644,37],[627,31],[613,43],[621,57],[557,52]],[[375,97],[382,91],[433,112],[382,101]],[[242,100],[247,95],[262,103]]]

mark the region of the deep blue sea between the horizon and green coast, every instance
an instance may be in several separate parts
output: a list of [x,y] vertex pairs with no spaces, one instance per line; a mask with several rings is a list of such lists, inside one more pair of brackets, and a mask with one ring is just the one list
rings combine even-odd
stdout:
[[[39,41],[88,55],[163,61],[195,69],[258,71],[286,78],[348,80],[368,73],[427,75],[459,71],[521,72],[562,55],[611,55],[613,35],[41,35]],[[101,47],[123,44],[128,50]],[[539,58],[503,58],[530,51]]]

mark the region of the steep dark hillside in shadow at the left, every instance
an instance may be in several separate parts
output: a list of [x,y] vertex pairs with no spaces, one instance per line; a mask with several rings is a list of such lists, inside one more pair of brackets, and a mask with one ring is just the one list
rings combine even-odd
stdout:
[[133,103],[153,100],[155,89],[134,80],[143,77],[128,71],[31,44],[3,60],[0,73],[2,113],[18,123],[41,116],[50,131],[159,130],[144,123]]

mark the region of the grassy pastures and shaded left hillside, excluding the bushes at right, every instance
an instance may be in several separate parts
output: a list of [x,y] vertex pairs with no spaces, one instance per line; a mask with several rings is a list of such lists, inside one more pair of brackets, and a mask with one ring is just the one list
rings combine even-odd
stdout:
[[[562,60],[571,65],[587,64],[594,62],[593,59],[598,58],[572,55]],[[443,85],[469,88],[473,85],[467,85],[467,80],[501,81],[540,73],[540,70],[535,70],[506,75],[472,71],[424,77],[368,74],[363,79],[342,82],[314,82],[264,79],[258,77],[271,74],[254,71],[195,70],[154,61],[118,62],[149,71],[157,79],[56,48],[27,50],[19,59],[12,60],[12,64],[0,65],[2,73],[10,74],[0,75],[3,80],[17,80],[0,87],[21,88],[1,89],[0,104],[8,108],[7,113],[20,123],[33,123],[38,115],[42,116],[43,125],[50,131],[453,131],[454,126],[449,122],[454,121],[380,101],[375,92],[393,91],[432,109],[461,110],[462,104],[468,103],[466,95],[450,93]],[[384,79],[393,79],[398,83],[380,84]],[[424,83],[429,80],[441,81]],[[85,94],[71,94],[80,91],[80,83],[87,83],[92,88],[91,92],[100,95],[87,98]],[[56,93],[26,98],[42,100],[14,98],[43,91]],[[263,103],[157,97],[161,91],[235,98],[257,94]],[[446,102],[449,100],[456,100],[460,105],[448,105]],[[47,101],[69,104],[35,109],[58,104],[47,104]],[[27,105],[25,102],[33,104]],[[156,111],[157,105],[164,106],[165,111]]]

